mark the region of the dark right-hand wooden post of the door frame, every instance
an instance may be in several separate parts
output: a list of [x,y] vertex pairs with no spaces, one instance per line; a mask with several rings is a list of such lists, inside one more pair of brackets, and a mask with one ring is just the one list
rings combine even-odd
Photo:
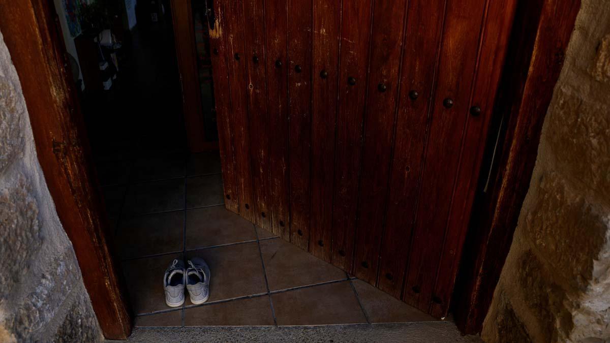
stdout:
[[463,333],[480,332],[491,305],[579,9],[580,0],[522,0],[517,7],[495,105],[499,134],[490,134],[487,144],[491,173],[489,181],[486,170],[481,173],[453,297],[455,320]]

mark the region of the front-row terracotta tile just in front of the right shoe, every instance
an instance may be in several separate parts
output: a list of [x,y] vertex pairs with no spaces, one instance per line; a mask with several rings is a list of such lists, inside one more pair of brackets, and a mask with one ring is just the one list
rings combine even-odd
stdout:
[[195,326],[266,326],[274,325],[269,297],[246,298],[187,308],[184,325]]

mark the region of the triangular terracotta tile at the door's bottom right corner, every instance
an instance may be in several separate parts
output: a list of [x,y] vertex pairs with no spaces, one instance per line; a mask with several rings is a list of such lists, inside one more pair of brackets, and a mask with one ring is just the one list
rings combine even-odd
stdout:
[[433,317],[362,280],[352,280],[371,323],[432,322]]

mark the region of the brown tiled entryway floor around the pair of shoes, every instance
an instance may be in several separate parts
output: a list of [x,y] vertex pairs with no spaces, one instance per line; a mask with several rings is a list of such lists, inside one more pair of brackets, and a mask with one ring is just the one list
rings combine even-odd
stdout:
[[[432,317],[224,209],[217,154],[176,152],[98,167],[139,327],[325,325]],[[165,305],[173,259],[200,256],[210,299]]]

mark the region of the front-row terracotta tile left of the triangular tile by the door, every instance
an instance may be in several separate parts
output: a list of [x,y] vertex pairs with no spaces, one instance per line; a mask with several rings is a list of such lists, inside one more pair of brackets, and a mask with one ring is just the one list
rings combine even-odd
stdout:
[[271,294],[278,325],[366,323],[350,281]]

